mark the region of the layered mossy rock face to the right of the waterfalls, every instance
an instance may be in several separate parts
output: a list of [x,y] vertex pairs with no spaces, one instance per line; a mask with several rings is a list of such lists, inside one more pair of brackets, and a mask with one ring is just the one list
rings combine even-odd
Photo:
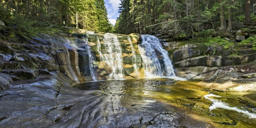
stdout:
[[[255,91],[256,79],[243,75],[256,71],[256,51],[250,45],[205,46],[183,42],[164,42],[172,58],[176,76],[198,79],[204,88],[224,91]],[[237,54],[239,53],[239,54]],[[242,72],[243,71],[243,72]]]

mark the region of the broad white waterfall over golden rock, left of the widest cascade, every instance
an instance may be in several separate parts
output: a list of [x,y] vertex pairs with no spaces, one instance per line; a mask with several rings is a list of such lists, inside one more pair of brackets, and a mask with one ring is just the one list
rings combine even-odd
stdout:
[[112,68],[112,73],[109,75],[109,79],[122,79],[123,61],[122,61],[122,49],[119,40],[115,34],[104,34],[104,49],[107,50],[107,54],[104,54],[104,60]]

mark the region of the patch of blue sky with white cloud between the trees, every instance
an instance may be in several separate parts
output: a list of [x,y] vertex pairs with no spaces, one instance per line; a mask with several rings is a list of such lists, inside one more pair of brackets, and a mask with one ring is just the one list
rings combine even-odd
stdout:
[[104,0],[105,1],[105,6],[108,11],[108,18],[111,24],[115,25],[116,23],[116,18],[118,17],[118,7],[121,4],[120,0]]

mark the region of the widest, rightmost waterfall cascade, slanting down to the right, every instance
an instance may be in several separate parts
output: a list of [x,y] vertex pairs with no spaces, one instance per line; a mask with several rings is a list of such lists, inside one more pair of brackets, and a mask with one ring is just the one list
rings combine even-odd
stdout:
[[[146,77],[176,77],[168,52],[163,49],[159,39],[151,35],[141,35],[141,38],[142,44],[139,44],[138,47]],[[161,58],[158,58],[156,53]],[[159,59],[164,62],[162,65]]]

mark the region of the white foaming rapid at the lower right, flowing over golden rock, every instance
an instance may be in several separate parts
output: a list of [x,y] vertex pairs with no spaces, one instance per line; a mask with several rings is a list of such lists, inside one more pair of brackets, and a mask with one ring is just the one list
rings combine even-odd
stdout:
[[247,115],[250,118],[255,118],[256,119],[256,114],[249,113],[248,111],[244,111],[244,110],[238,109],[236,107],[229,107],[228,104],[226,104],[222,101],[210,98],[210,97],[218,97],[219,98],[221,96],[217,96],[217,95],[214,95],[214,94],[209,94],[209,95],[205,95],[204,97],[207,100],[210,100],[212,102],[212,105],[209,107],[210,110],[213,110],[213,109],[216,109],[216,108],[228,109],[228,110],[237,111],[238,113],[243,113],[244,115]]

